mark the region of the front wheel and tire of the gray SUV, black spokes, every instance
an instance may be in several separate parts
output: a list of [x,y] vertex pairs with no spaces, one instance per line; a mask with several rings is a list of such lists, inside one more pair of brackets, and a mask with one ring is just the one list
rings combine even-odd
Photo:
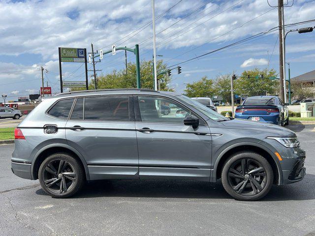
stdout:
[[[243,163],[245,163],[245,173],[243,173]],[[249,174],[253,170],[256,172]],[[270,191],[274,175],[264,157],[252,151],[240,151],[230,156],[224,163],[221,180],[225,191],[234,199],[255,201],[263,198]]]

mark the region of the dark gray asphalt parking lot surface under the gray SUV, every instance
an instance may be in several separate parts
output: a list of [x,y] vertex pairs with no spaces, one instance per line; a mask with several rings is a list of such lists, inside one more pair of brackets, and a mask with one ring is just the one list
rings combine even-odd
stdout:
[[14,145],[0,146],[0,235],[315,236],[315,126],[290,125],[307,151],[307,175],[258,202],[233,200],[221,183],[105,180],[70,199],[14,176]]

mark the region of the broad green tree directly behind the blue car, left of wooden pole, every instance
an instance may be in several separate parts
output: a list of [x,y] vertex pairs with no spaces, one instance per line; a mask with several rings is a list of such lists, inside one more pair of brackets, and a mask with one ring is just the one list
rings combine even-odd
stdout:
[[[250,79],[248,79],[250,75]],[[263,75],[263,78],[261,78]],[[259,70],[245,70],[242,73],[243,78],[234,81],[234,93],[239,95],[258,96],[266,94],[276,94],[279,88],[279,80],[271,80],[268,77],[276,77],[278,74],[274,69],[268,71],[267,68]],[[258,76],[256,79],[255,77]]]

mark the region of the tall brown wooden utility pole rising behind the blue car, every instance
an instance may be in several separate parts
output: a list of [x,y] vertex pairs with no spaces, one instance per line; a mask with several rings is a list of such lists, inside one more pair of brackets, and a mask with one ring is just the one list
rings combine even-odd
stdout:
[[278,24],[279,24],[279,74],[280,74],[280,99],[284,101],[284,51],[283,51],[283,23],[282,7],[284,0],[278,0]]

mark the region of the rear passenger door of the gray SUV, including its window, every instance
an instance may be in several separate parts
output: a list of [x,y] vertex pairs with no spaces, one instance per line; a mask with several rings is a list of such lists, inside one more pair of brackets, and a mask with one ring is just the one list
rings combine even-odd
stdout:
[[138,178],[132,96],[77,98],[66,139],[88,164],[90,178]]

